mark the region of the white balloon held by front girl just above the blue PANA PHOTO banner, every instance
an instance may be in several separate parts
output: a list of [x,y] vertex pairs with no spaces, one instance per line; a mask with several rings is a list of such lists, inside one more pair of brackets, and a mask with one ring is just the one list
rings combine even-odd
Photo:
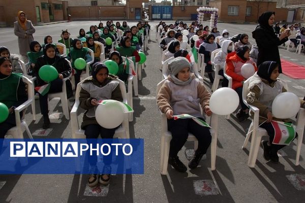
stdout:
[[[104,100],[105,101],[105,100]],[[97,122],[104,128],[115,128],[124,120],[124,110],[119,101],[109,99],[104,105],[100,104],[95,112]]]

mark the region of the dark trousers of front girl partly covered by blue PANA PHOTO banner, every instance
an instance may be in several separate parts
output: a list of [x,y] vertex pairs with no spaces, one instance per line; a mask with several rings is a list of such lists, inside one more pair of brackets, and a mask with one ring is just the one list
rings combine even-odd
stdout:
[[[95,139],[95,140],[90,140],[90,143],[93,144],[97,143],[97,139],[99,135],[101,135],[102,139],[112,139],[116,128],[107,129],[97,124],[87,125],[85,126],[86,139]],[[97,156],[91,156],[89,158],[90,166],[95,166],[97,164],[97,161],[98,161]],[[105,165],[110,165],[111,161],[112,161],[111,153],[108,156],[103,157],[103,163]]]

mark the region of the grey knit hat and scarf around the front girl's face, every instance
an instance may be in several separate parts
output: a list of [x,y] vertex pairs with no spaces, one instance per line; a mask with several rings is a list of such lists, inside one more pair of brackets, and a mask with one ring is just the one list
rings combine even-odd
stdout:
[[189,67],[191,69],[191,64],[187,58],[180,56],[174,58],[167,64],[167,69],[170,72],[170,77],[176,85],[187,85],[192,81],[191,77],[187,81],[181,81],[176,77],[176,75],[185,67]]

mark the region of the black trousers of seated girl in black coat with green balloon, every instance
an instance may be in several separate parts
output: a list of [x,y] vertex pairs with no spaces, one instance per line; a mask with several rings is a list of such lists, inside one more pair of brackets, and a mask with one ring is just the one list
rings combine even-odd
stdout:
[[[63,80],[57,78],[56,80],[51,82],[51,86],[48,93],[56,93],[61,91],[63,91]],[[42,115],[48,115],[49,113],[48,93],[46,93],[45,95],[39,94],[39,105]]]

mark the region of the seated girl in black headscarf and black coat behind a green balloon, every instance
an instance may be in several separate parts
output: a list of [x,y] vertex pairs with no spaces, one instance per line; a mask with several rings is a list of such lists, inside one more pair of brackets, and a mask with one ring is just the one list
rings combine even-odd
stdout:
[[[55,93],[63,91],[63,79],[71,75],[71,67],[69,62],[62,56],[56,54],[56,46],[47,44],[43,50],[44,55],[39,57],[33,69],[33,74],[37,77],[37,86],[43,86],[47,83],[44,82],[39,76],[39,70],[43,65],[52,65],[58,72],[58,78],[50,82],[49,91],[45,94],[39,93],[40,111],[43,115],[43,129],[50,126],[49,110],[48,110],[48,93]],[[72,85],[70,80],[66,81],[67,97],[72,96]]]

